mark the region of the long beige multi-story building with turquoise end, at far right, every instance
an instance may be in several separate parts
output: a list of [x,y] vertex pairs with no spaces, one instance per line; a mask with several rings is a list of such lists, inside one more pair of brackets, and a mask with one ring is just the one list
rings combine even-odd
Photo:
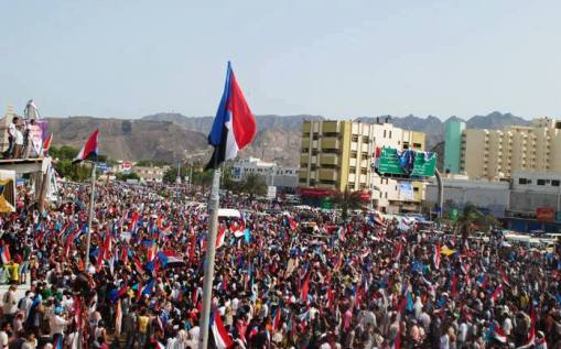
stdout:
[[445,146],[444,159],[460,164],[457,172],[453,171],[455,167],[447,168],[452,173],[492,179],[509,178],[515,171],[561,172],[561,152],[554,151],[561,149],[561,121],[541,118],[528,127],[464,130],[460,137],[460,159],[455,153],[457,129],[450,131],[449,134],[446,128],[446,142],[450,138],[453,151]]

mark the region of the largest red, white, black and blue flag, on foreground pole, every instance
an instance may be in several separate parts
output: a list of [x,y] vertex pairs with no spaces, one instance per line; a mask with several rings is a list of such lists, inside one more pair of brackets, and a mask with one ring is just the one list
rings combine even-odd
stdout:
[[238,150],[251,143],[256,132],[256,120],[228,62],[224,94],[208,134],[208,144],[214,146],[214,152],[206,168],[216,168],[222,162],[235,159]]

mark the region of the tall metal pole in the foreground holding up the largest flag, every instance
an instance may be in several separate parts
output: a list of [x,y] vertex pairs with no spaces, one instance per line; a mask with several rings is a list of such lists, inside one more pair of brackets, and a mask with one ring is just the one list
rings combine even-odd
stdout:
[[220,200],[220,167],[216,166],[213,175],[213,186],[211,188],[211,198],[208,207],[212,209],[211,221],[208,226],[208,243],[205,255],[205,279],[203,282],[203,308],[201,312],[201,336],[198,337],[198,349],[208,348],[208,327],[211,319],[211,302],[213,299],[213,280],[214,280],[214,255],[216,253],[216,235],[218,232],[218,204]]

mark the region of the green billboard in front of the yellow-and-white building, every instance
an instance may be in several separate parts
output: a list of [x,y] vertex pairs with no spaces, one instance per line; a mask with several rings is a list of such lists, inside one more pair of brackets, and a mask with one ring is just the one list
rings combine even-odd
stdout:
[[376,150],[374,167],[379,175],[432,177],[436,167],[436,154],[411,150],[398,151],[395,148],[382,146]]

